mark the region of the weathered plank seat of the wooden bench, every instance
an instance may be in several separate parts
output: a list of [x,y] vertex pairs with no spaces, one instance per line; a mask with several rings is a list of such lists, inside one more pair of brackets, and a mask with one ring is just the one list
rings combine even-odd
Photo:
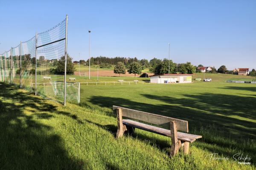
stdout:
[[[123,119],[123,124],[127,125],[127,126],[131,126],[131,127],[135,127],[138,129],[142,129],[142,130],[146,130],[152,133],[157,133],[160,135],[165,135],[165,136],[169,136],[171,137],[171,131],[167,130],[167,129],[163,129],[160,127],[154,127],[148,124],[143,124],[137,121],[132,121],[129,119]],[[202,138],[201,135],[192,135],[192,134],[188,134],[188,133],[181,133],[181,132],[177,132],[177,137],[178,140],[180,141],[186,141],[189,143],[192,143],[193,141],[195,141],[198,138]]]

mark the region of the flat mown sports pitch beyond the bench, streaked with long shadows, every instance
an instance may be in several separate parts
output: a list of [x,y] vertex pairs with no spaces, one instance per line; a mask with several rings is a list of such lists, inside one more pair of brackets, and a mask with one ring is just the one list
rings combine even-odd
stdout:
[[228,138],[256,137],[256,85],[193,84],[81,85],[81,102],[113,105],[189,121],[190,128],[214,126]]

